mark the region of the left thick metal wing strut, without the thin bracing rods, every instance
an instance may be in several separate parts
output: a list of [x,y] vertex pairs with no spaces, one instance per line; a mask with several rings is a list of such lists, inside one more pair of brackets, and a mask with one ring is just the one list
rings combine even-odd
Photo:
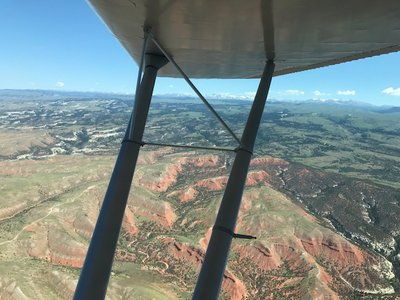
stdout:
[[[135,117],[129,121],[127,133],[115,163],[75,290],[75,300],[105,298],[157,71],[167,62],[164,56],[146,54],[143,79],[135,99],[133,114]],[[131,125],[133,130],[129,134]]]

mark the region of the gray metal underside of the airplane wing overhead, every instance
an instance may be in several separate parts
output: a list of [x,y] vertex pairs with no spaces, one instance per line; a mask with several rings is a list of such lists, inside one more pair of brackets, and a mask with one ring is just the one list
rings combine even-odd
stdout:
[[136,62],[151,26],[191,78],[258,78],[266,58],[280,75],[400,50],[399,0],[89,1]]

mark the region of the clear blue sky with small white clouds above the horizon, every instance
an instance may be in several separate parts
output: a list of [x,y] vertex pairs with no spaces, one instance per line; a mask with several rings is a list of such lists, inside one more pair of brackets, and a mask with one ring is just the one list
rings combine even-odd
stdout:
[[[81,1],[2,0],[0,89],[133,93],[137,66]],[[256,80],[195,80],[205,95],[251,99]],[[156,94],[193,94],[160,78]],[[339,99],[400,106],[400,53],[275,77],[270,98]]]

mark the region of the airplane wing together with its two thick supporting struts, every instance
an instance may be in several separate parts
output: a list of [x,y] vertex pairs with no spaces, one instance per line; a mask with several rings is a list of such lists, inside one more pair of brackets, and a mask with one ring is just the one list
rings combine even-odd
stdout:
[[[144,145],[141,139],[158,71],[160,76],[184,75],[196,94],[238,142],[193,293],[195,300],[217,299],[232,239],[249,237],[236,234],[234,229],[272,76],[400,50],[400,2],[90,2],[135,61],[141,62],[146,57],[144,62],[149,67],[145,68],[142,78],[139,72],[133,117],[121,144],[74,299],[103,299],[105,296],[135,163],[139,149]],[[151,36],[146,35],[146,41],[149,41],[146,47],[143,47],[143,27],[151,27]],[[171,63],[165,65],[168,61]],[[240,140],[187,76],[260,78]]]

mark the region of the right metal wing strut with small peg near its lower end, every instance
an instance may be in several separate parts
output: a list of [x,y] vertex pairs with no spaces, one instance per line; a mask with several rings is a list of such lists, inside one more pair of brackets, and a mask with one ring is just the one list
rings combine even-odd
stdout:
[[204,263],[197,279],[193,300],[218,299],[225,266],[234,237],[236,219],[246,183],[247,172],[267,99],[275,64],[268,61],[262,74],[241,145],[237,149],[235,161],[226,185],[217,219],[213,227]]

